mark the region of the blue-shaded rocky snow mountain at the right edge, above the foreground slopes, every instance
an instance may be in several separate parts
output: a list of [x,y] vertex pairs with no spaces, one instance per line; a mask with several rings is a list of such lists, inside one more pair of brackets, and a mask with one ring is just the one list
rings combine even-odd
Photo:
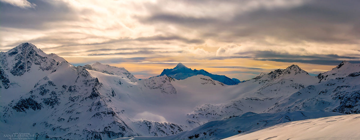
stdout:
[[343,61],[331,71],[319,75],[319,83],[289,94],[287,98],[271,106],[267,112],[325,110],[346,114],[360,113],[359,64]]

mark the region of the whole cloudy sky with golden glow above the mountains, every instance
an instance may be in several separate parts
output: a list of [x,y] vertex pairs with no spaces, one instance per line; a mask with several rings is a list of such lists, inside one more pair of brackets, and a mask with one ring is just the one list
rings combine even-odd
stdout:
[[247,80],[297,64],[360,63],[357,0],[0,0],[0,51],[29,42],[137,78],[182,62]]

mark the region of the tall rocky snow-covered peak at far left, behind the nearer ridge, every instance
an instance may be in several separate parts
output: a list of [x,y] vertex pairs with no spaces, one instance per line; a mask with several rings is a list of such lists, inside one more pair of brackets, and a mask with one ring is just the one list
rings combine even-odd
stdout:
[[29,43],[20,44],[7,52],[0,52],[1,103],[25,94],[36,82],[56,71],[62,62],[57,60],[63,60],[56,56],[45,54]]

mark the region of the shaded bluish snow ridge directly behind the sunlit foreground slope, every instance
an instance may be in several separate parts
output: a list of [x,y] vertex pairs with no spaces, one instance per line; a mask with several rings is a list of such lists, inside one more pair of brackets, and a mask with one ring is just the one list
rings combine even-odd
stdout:
[[239,133],[245,133],[259,128],[274,126],[279,123],[299,121],[310,118],[319,118],[319,117],[328,117],[328,116],[337,116],[341,113],[337,112],[324,112],[324,111],[314,111],[314,112],[280,112],[280,113],[262,113],[256,114],[253,112],[247,112],[241,116],[235,116],[221,121],[211,121],[205,123],[202,126],[194,128],[192,130],[183,131],[175,135],[169,136],[141,136],[141,137],[127,137],[120,138],[118,140],[219,140]]

